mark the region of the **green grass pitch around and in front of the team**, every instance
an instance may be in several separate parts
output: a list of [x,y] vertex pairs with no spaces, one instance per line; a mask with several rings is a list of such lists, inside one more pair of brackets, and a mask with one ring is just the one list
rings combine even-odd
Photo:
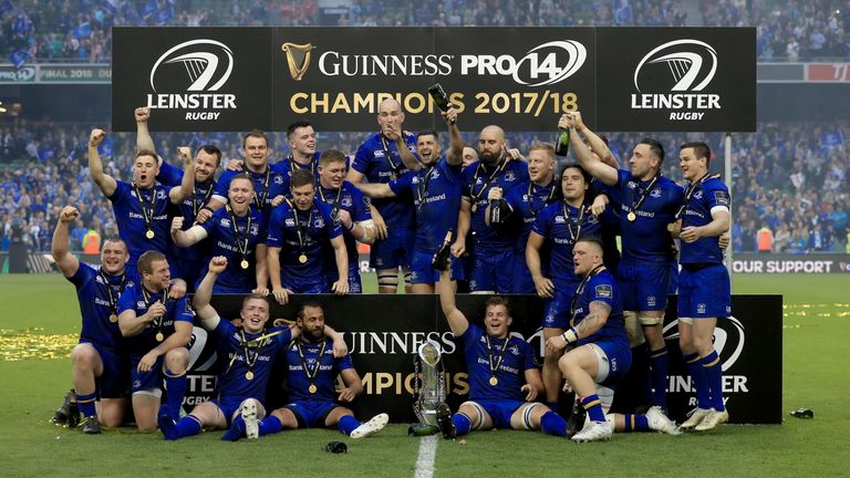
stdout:
[[[364,285],[374,291],[374,278],[364,278]],[[780,426],[726,425],[711,435],[680,437],[618,435],[587,445],[539,433],[477,433],[465,445],[439,440],[434,476],[848,476],[850,276],[736,276],[733,288],[785,295],[784,411],[809,407],[815,419],[786,415]],[[70,361],[10,360],[20,357],[10,351],[24,344],[24,355],[49,355],[50,345],[61,349],[79,331],[79,314],[73,287],[58,274],[0,276],[2,477],[415,474],[419,439],[408,438],[403,425],[359,441],[333,430],[300,430],[237,444],[221,443],[220,433],[166,443],[158,433],[83,436],[55,427],[48,419],[71,383]],[[41,330],[24,332],[28,328]],[[346,455],[323,451],[335,439],[349,443]]]

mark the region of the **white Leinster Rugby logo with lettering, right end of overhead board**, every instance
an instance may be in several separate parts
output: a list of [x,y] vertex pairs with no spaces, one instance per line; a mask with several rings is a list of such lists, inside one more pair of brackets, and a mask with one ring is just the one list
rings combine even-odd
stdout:
[[721,110],[721,96],[703,93],[717,73],[717,51],[699,40],[680,39],[652,49],[632,79],[633,110],[670,112],[670,119],[702,119]]

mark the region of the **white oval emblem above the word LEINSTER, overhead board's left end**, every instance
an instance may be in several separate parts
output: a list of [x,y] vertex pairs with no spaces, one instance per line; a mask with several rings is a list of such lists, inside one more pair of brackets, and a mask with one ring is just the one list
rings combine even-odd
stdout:
[[182,65],[186,71],[186,91],[218,91],[234,71],[234,52],[226,44],[208,39],[189,40],[173,46],[151,69],[151,87],[156,91],[159,67]]

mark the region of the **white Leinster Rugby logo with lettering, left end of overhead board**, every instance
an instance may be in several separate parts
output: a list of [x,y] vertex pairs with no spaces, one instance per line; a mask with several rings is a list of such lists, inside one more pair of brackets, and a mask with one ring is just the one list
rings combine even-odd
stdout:
[[232,50],[217,40],[176,44],[151,67],[147,106],[184,110],[186,119],[217,119],[222,110],[236,108],[236,95],[222,92],[234,65]]

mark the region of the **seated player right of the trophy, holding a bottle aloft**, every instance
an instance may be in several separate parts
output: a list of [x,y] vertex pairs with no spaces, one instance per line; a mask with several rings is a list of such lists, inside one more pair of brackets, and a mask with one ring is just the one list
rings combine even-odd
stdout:
[[455,304],[448,271],[439,274],[439,303],[452,333],[464,343],[469,373],[469,402],[460,405],[448,423],[448,409],[437,411],[446,438],[490,428],[540,429],[567,435],[567,423],[546,405],[535,402],[543,393],[543,381],[535,365],[531,345],[508,331],[507,300],[487,300],[485,328],[470,324]]

